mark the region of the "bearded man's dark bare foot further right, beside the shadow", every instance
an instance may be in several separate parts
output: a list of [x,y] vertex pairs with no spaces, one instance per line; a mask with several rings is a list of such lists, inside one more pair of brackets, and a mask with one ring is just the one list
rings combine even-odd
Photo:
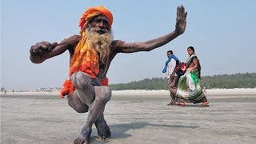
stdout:
[[98,139],[107,140],[111,137],[110,127],[106,124],[104,117],[98,118],[95,122],[95,126],[98,130]]

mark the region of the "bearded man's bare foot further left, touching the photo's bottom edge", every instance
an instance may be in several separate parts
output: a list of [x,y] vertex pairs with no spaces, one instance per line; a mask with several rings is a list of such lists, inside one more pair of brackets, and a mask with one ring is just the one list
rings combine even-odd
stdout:
[[85,144],[90,142],[91,128],[82,128],[81,134],[74,140],[74,144]]

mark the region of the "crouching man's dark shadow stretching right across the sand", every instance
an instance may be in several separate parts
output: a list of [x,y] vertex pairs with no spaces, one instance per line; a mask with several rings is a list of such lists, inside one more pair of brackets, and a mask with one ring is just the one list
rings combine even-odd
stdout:
[[[132,135],[126,134],[126,131],[128,130],[136,130],[136,129],[142,129],[146,126],[156,126],[156,127],[172,127],[172,128],[190,128],[190,129],[196,129],[199,126],[182,126],[182,125],[158,125],[158,124],[151,124],[149,122],[130,122],[126,124],[117,124],[117,125],[111,125],[111,139],[118,139],[118,138],[129,138]],[[97,130],[93,130],[97,131]],[[97,137],[95,137],[96,134],[93,134],[94,136],[90,138],[90,142],[92,143],[108,143],[108,141],[99,141]],[[110,139],[110,141],[111,141]]]

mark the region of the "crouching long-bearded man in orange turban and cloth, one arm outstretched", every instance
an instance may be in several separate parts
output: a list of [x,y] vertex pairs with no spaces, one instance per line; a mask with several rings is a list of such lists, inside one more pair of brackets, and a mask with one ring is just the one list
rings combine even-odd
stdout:
[[30,48],[30,60],[34,63],[44,62],[66,50],[70,52],[70,79],[64,83],[60,96],[67,95],[68,104],[78,113],[88,112],[86,124],[74,143],[89,143],[93,124],[99,138],[110,138],[110,127],[103,112],[111,97],[106,73],[115,55],[154,50],[177,38],[186,29],[186,12],[183,6],[178,6],[175,30],[146,42],[113,40],[112,22],[113,16],[105,7],[90,7],[79,22],[81,35],[70,36],[59,43],[37,42]]

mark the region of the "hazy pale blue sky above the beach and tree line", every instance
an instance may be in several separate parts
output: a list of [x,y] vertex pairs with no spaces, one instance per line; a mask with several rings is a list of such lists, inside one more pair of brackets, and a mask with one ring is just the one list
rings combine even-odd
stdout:
[[78,22],[90,6],[114,15],[114,39],[143,42],[174,30],[176,7],[188,12],[184,34],[150,52],[118,54],[107,77],[110,84],[162,78],[166,51],[185,62],[194,46],[202,76],[256,72],[256,1],[254,0],[1,0],[1,86],[7,90],[62,86],[68,79],[69,54],[41,64],[30,62],[35,42],[59,42],[78,34]]

